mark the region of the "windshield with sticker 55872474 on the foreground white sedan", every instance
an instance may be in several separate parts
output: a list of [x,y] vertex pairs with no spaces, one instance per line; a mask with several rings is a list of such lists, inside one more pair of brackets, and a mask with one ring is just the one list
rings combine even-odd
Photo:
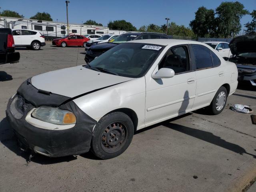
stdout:
[[144,76],[163,49],[160,45],[124,43],[98,56],[84,67],[118,76],[139,78]]

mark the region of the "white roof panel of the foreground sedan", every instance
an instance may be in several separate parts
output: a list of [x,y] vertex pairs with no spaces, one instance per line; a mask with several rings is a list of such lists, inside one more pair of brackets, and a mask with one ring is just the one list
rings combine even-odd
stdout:
[[198,42],[198,41],[191,41],[191,40],[179,40],[179,39],[144,39],[144,40],[133,40],[128,41],[125,43],[148,43],[148,44],[156,44],[156,45],[162,45],[162,46],[175,46],[175,45],[181,45],[181,44],[200,44],[204,46],[208,46],[205,43]]

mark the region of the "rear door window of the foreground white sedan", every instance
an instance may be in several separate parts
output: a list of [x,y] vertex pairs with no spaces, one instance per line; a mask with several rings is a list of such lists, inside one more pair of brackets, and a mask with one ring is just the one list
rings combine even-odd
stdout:
[[196,70],[212,67],[212,57],[210,50],[207,47],[192,44],[191,48],[195,58]]

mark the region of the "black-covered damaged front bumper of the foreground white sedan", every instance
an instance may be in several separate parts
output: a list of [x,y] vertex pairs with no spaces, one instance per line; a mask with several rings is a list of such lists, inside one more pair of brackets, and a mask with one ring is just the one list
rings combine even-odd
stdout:
[[[28,84],[27,86],[32,85]],[[34,92],[32,94],[38,95],[39,93]],[[49,130],[38,128],[26,121],[27,114],[35,107],[26,99],[26,103],[24,103],[26,106],[21,106],[24,110],[22,117],[20,119],[14,117],[10,105],[16,96],[10,98],[8,102],[6,117],[14,134],[26,148],[50,157],[78,155],[89,151],[92,130],[96,125],[96,120],[85,114],[72,100],[62,104],[59,108],[75,114],[75,126],[65,130]],[[51,96],[48,99],[50,98]],[[36,100],[33,102],[37,103]]]

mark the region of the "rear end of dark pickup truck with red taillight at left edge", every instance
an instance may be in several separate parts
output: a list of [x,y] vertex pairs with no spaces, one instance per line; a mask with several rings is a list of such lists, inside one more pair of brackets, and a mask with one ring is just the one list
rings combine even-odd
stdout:
[[15,52],[12,30],[0,28],[0,64],[17,63],[20,60],[20,53]]

